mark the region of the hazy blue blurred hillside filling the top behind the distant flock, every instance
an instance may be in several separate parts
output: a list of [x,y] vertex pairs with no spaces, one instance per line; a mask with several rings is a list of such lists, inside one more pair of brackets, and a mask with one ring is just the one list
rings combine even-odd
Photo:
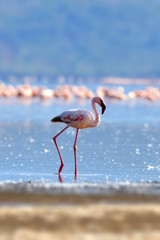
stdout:
[[160,1],[1,0],[0,74],[160,77]]

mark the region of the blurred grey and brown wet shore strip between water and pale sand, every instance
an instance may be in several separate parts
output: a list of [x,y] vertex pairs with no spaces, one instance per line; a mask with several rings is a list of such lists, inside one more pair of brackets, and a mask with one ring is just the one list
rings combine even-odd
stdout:
[[1,182],[0,204],[159,203],[160,183]]

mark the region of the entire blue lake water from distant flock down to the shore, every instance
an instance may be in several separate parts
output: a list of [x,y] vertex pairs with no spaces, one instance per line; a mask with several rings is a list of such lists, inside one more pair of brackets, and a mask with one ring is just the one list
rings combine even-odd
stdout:
[[[159,102],[108,102],[101,124],[81,130],[77,183],[160,181]],[[50,119],[90,101],[0,100],[0,181],[59,182],[60,161],[52,141],[64,124]],[[64,160],[62,179],[74,182],[75,129],[57,138]]]

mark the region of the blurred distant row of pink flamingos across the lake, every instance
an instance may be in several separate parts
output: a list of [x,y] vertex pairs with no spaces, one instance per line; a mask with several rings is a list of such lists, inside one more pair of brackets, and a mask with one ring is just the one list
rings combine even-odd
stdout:
[[[95,94],[86,86],[76,85],[59,85],[56,89],[49,89],[46,87],[32,86],[28,83],[17,85],[6,85],[0,83],[0,97],[24,97],[33,98],[39,97],[41,100],[49,98],[62,98],[71,100],[72,98],[91,99]],[[133,90],[127,94],[123,87],[110,88],[106,86],[99,86],[96,89],[96,95],[102,98],[118,99],[118,100],[132,100],[137,98],[144,98],[150,101],[160,99],[160,88],[146,86],[144,89]]]

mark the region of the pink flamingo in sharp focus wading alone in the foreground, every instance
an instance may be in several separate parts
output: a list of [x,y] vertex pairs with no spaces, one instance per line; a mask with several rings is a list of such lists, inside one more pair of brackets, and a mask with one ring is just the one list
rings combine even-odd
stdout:
[[102,100],[102,98],[100,97],[93,97],[92,101],[91,101],[91,105],[93,108],[93,111],[95,113],[95,118],[93,113],[91,113],[88,110],[77,110],[77,109],[73,109],[73,110],[69,110],[69,111],[65,111],[63,113],[61,113],[60,115],[54,117],[51,122],[63,122],[66,123],[67,126],[61,131],[59,132],[55,137],[53,137],[53,141],[56,145],[59,157],[60,157],[60,161],[61,161],[61,165],[59,168],[59,174],[61,173],[64,163],[62,160],[62,156],[60,153],[60,150],[58,148],[57,142],[56,142],[56,138],[63,133],[68,127],[73,127],[76,128],[76,137],[75,137],[75,141],[74,141],[74,145],[73,145],[73,149],[74,149],[74,157],[75,157],[75,177],[77,176],[77,157],[76,157],[76,143],[77,143],[77,137],[78,137],[78,132],[79,129],[83,129],[83,128],[89,128],[89,127],[97,127],[100,123],[100,115],[98,112],[98,109],[96,107],[96,103],[102,107],[102,114],[104,113],[105,109],[106,109],[106,105],[104,103],[104,101]]

